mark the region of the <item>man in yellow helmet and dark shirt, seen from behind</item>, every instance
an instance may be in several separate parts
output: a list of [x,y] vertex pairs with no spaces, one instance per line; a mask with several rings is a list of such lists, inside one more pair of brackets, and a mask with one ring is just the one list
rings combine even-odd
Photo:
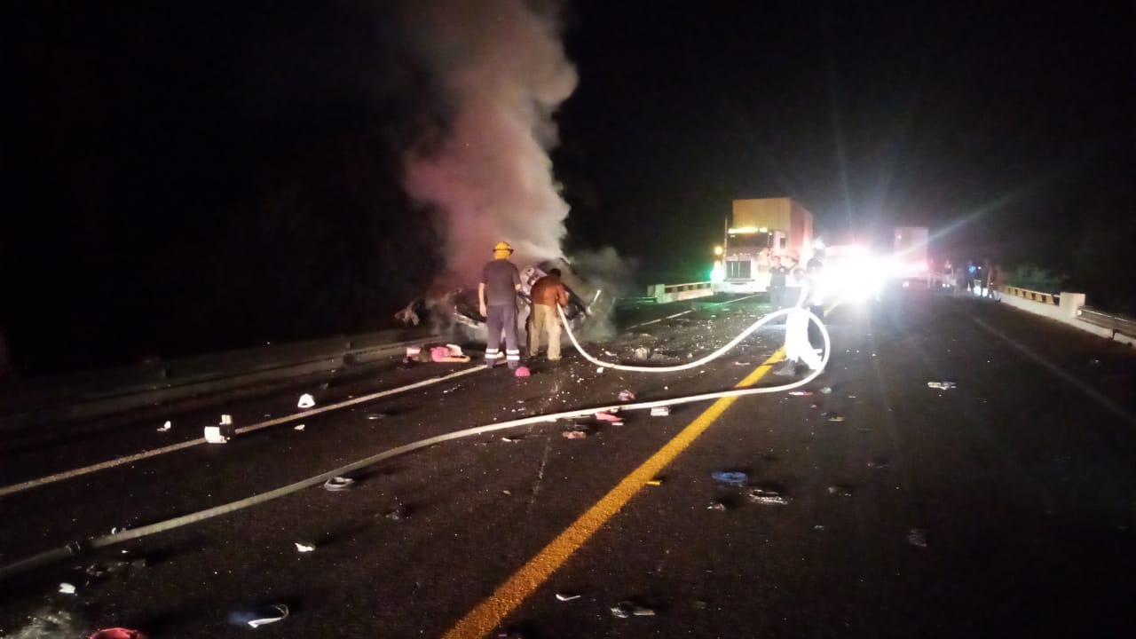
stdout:
[[488,334],[485,338],[485,366],[496,364],[501,349],[501,331],[504,330],[504,358],[509,368],[520,366],[520,347],[517,343],[517,291],[520,290],[520,273],[509,262],[512,247],[509,242],[498,242],[493,247],[493,262],[482,268],[482,282],[477,287],[477,300]]

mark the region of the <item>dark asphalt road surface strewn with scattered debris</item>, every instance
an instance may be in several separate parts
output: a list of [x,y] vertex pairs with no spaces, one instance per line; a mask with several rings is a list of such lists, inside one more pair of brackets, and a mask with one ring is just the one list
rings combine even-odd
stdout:
[[[594,351],[684,362],[768,309],[755,299],[700,308]],[[351,474],[348,490],[304,489],[8,579],[0,637],[108,626],[151,638],[1133,636],[1131,349],[925,291],[842,305],[828,326],[834,351],[811,396],[440,443]],[[607,405],[623,389],[643,400],[746,377],[774,385],[762,364],[780,339],[762,330],[670,374],[600,373],[568,349],[528,379],[481,371],[304,418],[303,430],[292,422],[22,490],[0,497],[0,566],[427,437]],[[327,405],[460,368],[391,365],[311,390]],[[220,413],[251,424],[295,401],[226,403],[173,416],[168,432],[147,422],[23,437],[0,448],[0,479],[189,441]],[[562,437],[573,428],[587,437]],[[719,471],[745,480],[720,483]],[[754,490],[787,503],[752,501]],[[62,582],[76,592],[58,592]],[[641,614],[615,615],[621,601]],[[290,615],[241,623],[265,604]]]

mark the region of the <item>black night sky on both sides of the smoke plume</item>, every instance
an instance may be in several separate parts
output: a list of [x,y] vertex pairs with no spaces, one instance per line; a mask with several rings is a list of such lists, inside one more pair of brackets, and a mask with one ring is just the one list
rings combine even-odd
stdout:
[[[787,194],[829,241],[928,225],[1136,310],[1131,3],[662,5],[562,10],[569,252],[702,279],[730,200]],[[396,2],[108,7],[0,20],[19,372],[373,330],[429,288],[401,156],[449,114]]]

